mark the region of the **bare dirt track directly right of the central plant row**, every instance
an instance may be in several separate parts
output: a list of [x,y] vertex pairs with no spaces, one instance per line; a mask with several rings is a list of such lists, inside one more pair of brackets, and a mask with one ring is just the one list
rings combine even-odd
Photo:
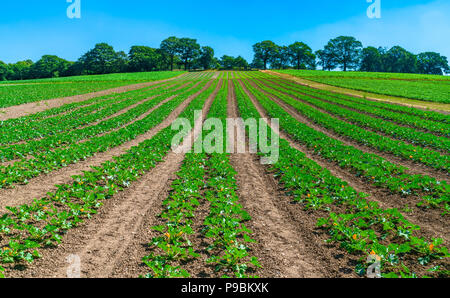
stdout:
[[[234,86],[230,82],[228,93],[228,117],[238,118]],[[237,144],[245,142],[245,130],[229,132],[229,140]],[[262,264],[261,277],[277,278],[314,278],[325,277],[323,264],[306,249],[290,217],[279,210],[274,198],[285,196],[270,177],[261,172],[261,165],[254,155],[235,153],[231,155],[231,165],[237,171],[238,195],[240,203],[250,214],[252,220],[246,223],[254,232],[257,245],[252,245],[252,255],[256,255]]]

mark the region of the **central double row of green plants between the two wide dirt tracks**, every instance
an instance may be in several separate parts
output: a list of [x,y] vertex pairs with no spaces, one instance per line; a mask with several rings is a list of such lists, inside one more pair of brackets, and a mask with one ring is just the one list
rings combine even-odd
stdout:
[[[209,117],[225,121],[227,113],[227,86],[225,81],[210,109]],[[218,146],[226,144],[217,144]],[[248,277],[249,269],[259,267],[258,260],[251,257],[247,242],[254,242],[244,221],[249,215],[238,203],[236,172],[230,165],[227,154],[187,154],[173,192],[164,201],[160,214],[166,222],[153,227],[159,236],[151,246],[152,252],[143,260],[151,269],[146,277],[190,277],[183,269],[189,262],[200,258],[201,249],[192,244],[192,237],[200,233],[210,239],[203,252],[208,255],[206,263],[214,267],[216,274],[223,277]],[[209,215],[204,220],[204,229],[195,231],[192,227],[196,210],[208,202]],[[180,266],[183,263],[184,266]]]

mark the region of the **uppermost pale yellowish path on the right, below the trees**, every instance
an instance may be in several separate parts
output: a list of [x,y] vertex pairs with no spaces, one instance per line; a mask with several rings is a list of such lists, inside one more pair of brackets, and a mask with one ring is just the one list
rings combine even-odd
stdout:
[[417,109],[421,109],[424,111],[434,111],[438,113],[443,114],[449,114],[450,113],[450,105],[445,103],[437,103],[437,102],[427,102],[427,101],[421,101],[416,99],[410,99],[410,98],[403,98],[403,97],[395,97],[395,96],[389,96],[389,95],[382,95],[377,93],[370,93],[365,91],[358,91],[358,90],[352,90],[352,89],[346,89],[341,87],[335,87],[332,85],[317,83],[314,81],[306,80],[303,78],[291,76],[288,74],[282,74],[275,71],[265,70],[262,71],[267,74],[271,74],[277,77],[281,77],[284,79],[288,79],[290,81],[296,82],[297,84],[300,84],[302,86],[307,86],[313,89],[321,89],[326,90],[334,93],[340,93],[347,96],[353,96],[353,97],[359,97],[364,98],[366,100],[371,101],[380,101],[380,102],[387,102],[390,104],[396,104],[401,106],[407,106],[407,107],[413,107]]

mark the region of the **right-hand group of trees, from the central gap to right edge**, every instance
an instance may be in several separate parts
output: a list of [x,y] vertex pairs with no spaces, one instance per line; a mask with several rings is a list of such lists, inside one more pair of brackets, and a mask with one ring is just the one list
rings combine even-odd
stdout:
[[442,75],[450,73],[446,57],[435,52],[415,55],[400,46],[390,49],[366,47],[356,38],[339,36],[331,39],[323,49],[313,50],[303,42],[279,46],[270,40],[253,46],[254,68],[267,69],[341,69],[343,71],[420,73]]

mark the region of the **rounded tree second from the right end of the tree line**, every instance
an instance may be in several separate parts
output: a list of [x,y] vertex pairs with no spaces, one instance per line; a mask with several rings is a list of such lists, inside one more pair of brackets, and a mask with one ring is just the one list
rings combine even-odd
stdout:
[[392,47],[383,55],[384,71],[397,73],[417,72],[417,57],[400,46]]

